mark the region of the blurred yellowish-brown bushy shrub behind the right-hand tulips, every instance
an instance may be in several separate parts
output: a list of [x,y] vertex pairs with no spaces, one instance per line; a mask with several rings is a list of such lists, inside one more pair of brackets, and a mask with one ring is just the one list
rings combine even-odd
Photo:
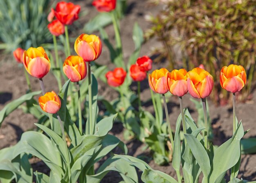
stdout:
[[256,0],[151,0],[164,3],[156,17],[147,16],[151,28],[146,40],[157,37],[163,43],[155,53],[166,58],[170,68],[191,70],[204,64],[213,75],[211,96],[226,103],[228,93],[219,85],[222,66],[243,65],[247,84],[240,99],[246,99],[255,79]]

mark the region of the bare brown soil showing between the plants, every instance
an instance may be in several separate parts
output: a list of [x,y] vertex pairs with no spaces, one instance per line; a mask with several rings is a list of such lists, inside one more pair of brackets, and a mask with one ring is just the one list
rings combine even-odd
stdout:
[[[128,60],[129,55],[134,50],[134,44],[132,42],[132,27],[134,22],[138,22],[139,26],[145,31],[150,27],[150,24],[146,22],[145,15],[152,14],[156,15],[157,12],[162,8],[149,6],[146,0],[128,0],[128,13],[121,20],[121,37],[123,42],[124,49],[124,57],[125,60]],[[83,18],[79,19],[81,26],[90,18],[97,15],[97,11],[91,6],[90,1],[85,0],[76,0],[75,4],[81,5],[81,11],[88,11],[88,14]],[[109,34],[110,40],[114,40],[113,27],[107,26],[106,31]],[[78,29],[77,32],[73,32],[72,35],[74,37],[83,33],[81,29]],[[99,33],[96,33],[99,34]],[[71,44],[72,45],[72,44]],[[141,56],[142,55],[150,55],[153,48],[162,46],[160,42],[153,39],[142,46]],[[72,47],[72,46],[71,46]],[[1,55],[0,61],[0,76],[1,76],[1,84],[0,84],[0,110],[8,104],[10,101],[19,98],[24,95],[27,90],[27,84],[24,77],[23,66],[17,64],[12,55]],[[108,65],[108,68],[113,69],[114,65],[110,64],[109,53],[106,46],[103,46],[103,51],[101,57],[97,60],[97,63]],[[168,67],[168,62],[155,63],[153,69]],[[45,87],[47,91],[55,90],[58,91],[58,85],[54,76],[49,73],[44,78]],[[30,77],[32,90],[40,90],[38,79]],[[132,85],[132,89],[136,90],[135,84]],[[118,94],[112,88],[106,86],[103,82],[99,81],[99,95],[105,97],[108,100],[112,100],[118,96]],[[148,83],[145,80],[142,82],[142,94],[144,96],[142,98],[142,102],[146,102],[150,96],[150,90],[148,88]],[[35,97],[36,98],[36,97]],[[189,94],[184,96],[184,107],[189,108],[192,117],[196,119],[197,113],[194,104],[190,101],[191,96]],[[252,100],[246,101],[245,103],[238,103],[236,115],[238,121],[242,119],[243,127],[245,130],[251,129],[244,138],[256,137],[256,125],[255,125],[255,111],[256,111],[256,91],[252,93]],[[151,104],[144,105],[146,110],[153,112],[153,106]],[[216,106],[209,101],[209,111],[212,121],[212,128],[214,132],[214,141],[215,145],[220,145],[229,139],[232,136],[232,106]],[[180,106],[179,100],[177,97],[171,97],[168,100],[168,112],[169,117],[171,119],[171,125],[175,127],[175,121],[177,116],[180,114]],[[36,119],[30,115],[25,114],[22,109],[17,109],[12,112],[8,117],[6,117],[0,127],[0,149],[6,148],[9,146],[15,145],[20,137],[22,132],[27,130],[34,130]],[[174,128],[175,129],[175,128]],[[121,123],[114,123],[113,129],[111,130],[112,134],[115,134],[119,139],[124,141],[128,146],[128,155],[132,155],[134,157],[143,156],[147,157],[148,164],[155,170],[160,170],[169,174],[175,178],[175,171],[173,170],[171,163],[166,166],[159,166],[154,163],[150,158],[150,152],[148,150],[144,150],[144,144],[136,139],[132,139],[130,141],[125,141],[123,138],[124,128]],[[121,153],[120,150],[115,150],[115,153]],[[32,167],[34,170],[38,170],[39,172],[47,173],[49,169],[45,166],[45,164],[40,161],[40,159],[33,158],[30,160]],[[97,165],[98,166],[98,165]],[[141,172],[138,171],[140,176]],[[249,181],[256,180],[256,154],[246,154],[242,155],[242,161],[240,166],[240,173],[238,174],[239,178],[243,178]],[[110,172],[103,179],[103,183],[118,183],[121,181],[121,177],[119,174],[115,172]]]

